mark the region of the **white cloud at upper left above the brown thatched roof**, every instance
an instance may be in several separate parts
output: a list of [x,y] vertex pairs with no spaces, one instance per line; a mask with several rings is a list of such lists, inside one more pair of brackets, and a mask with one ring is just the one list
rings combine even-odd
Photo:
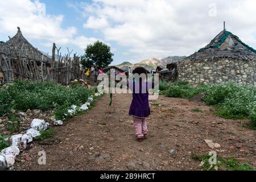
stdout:
[[19,26],[27,38],[40,40],[41,45],[51,47],[55,42],[59,46],[78,46],[84,49],[97,39],[77,37],[76,27],[63,28],[63,15],[44,14],[44,4],[39,0],[0,1],[0,32],[14,35]]

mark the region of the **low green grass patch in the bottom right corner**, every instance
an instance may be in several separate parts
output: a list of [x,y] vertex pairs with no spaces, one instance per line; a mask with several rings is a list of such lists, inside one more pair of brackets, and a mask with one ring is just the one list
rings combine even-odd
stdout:
[[197,155],[192,154],[191,158],[193,160],[203,162],[203,166],[201,166],[201,169],[205,171],[216,171],[214,167],[224,167],[227,171],[254,171],[255,169],[251,167],[250,164],[247,163],[240,163],[235,158],[221,158],[220,156],[217,156],[217,164],[211,166],[209,164],[209,155]]

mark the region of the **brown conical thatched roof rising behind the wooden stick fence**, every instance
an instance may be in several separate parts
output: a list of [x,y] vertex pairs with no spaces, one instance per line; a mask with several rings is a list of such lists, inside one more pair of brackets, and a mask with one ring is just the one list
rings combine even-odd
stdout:
[[18,54],[19,57],[28,57],[28,59],[36,61],[51,61],[48,56],[33,47],[27,39],[24,38],[19,27],[17,34],[0,46],[0,51],[5,52],[6,55],[17,56]]

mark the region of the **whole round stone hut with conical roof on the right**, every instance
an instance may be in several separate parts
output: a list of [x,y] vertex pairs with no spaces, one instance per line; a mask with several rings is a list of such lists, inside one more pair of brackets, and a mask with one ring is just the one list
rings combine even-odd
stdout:
[[223,30],[206,47],[177,62],[178,80],[191,85],[236,82],[256,85],[256,51]]

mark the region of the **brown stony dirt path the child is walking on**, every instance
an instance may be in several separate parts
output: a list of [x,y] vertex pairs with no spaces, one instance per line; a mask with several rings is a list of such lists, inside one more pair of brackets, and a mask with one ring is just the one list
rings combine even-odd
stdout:
[[[106,95],[88,113],[56,127],[54,138],[59,144],[33,143],[19,155],[15,169],[127,170],[127,163],[134,162],[131,169],[198,170],[200,162],[191,159],[191,154],[210,151],[204,139],[221,145],[218,155],[234,156],[255,166],[256,131],[241,127],[242,121],[218,118],[204,104],[160,96],[151,102],[148,139],[138,143],[127,115],[130,94],[113,98],[112,107]],[[193,113],[193,109],[203,113]],[[170,156],[169,150],[175,154]],[[46,165],[38,164],[39,151],[46,152]]]

